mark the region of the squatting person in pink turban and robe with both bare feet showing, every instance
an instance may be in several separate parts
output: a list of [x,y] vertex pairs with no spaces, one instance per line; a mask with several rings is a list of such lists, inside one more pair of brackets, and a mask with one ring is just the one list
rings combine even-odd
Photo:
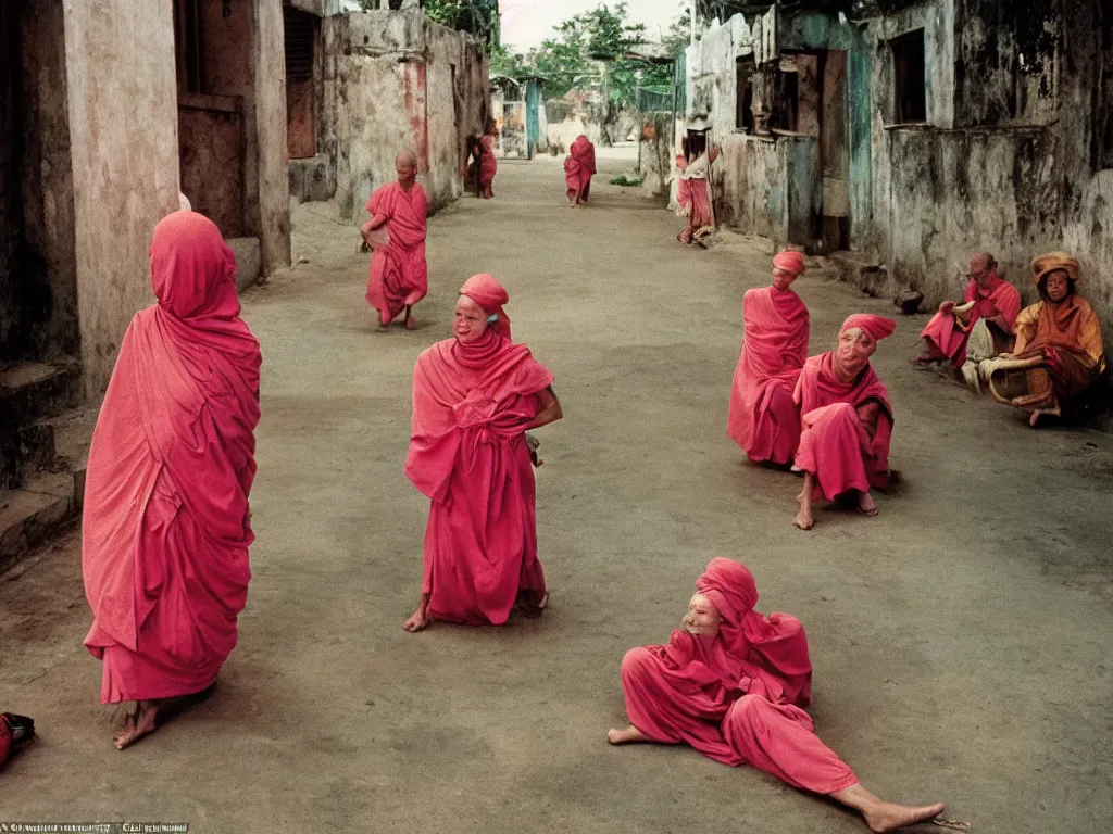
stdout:
[[870,487],[887,489],[893,407],[889,393],[869,357],[877,342],[896,330],[881,316],[857,312],[839,328],[834,350],[812,356],[804,365],[792,397],[800,407],[800,445],[796,466],[804,471],[792,520],[811,529],[811,502],[851,499],[866,515],[877,515]]

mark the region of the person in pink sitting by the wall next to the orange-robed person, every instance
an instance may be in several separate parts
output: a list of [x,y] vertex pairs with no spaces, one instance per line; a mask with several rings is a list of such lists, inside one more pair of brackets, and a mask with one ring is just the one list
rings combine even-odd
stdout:
[[915,364],[947,361],[961,368],[966,361],[966,342],[979,320],[989,327],[997,353],[1012,348],[1016,317],[1021,312],[1021,294],[997,275],[997,261],[989,252],[978,252],[971,258],[968,277],[962,307],[944,301],[920,332],[924,353],[916,357]]

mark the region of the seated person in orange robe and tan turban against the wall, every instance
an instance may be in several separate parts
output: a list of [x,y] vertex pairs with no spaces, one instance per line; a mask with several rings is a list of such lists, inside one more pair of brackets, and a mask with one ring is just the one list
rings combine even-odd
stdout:
[[978,373],[989,393],[1006,405],[1060,416],[1105,369],[1101,324],[1090,302],[1075,292],[1078,261],[1066,252],[1047,252],[1032,261],[1040,300],[1016,318],[1011,353],[983,363]]

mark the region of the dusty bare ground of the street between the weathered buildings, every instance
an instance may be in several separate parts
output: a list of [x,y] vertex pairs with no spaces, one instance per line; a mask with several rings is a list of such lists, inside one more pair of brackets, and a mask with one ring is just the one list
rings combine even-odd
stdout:
[[[604,173],[624,169],[615,159]],[[725,433],[740,298],[762,241],[680,247],[680,221],[597,180],[563,205],[558,163],[503,165],[498,199],[430,228],[422,329],[378,332],[366,256],[327,206],[296,216],[308,259],[252,291],[263,341],[258,542],[217,695],[131,751],[109,742],[76,537],[0,582],[0,705],[41,742],[3,773],[0,818],[188,821],[196,832],[857,832],[856,817],[692,751],[612,748],[618,666],[666,638],[717,554],[759,607],[800,616],[820,735],[874,791],[944,800],[977,832],[1113,826],[1111,438],[1027,429],[914,371],[924,318],[876,366],[907,487],[874,519],[790,526],[799,481]],[[404,633],[426,502],[402,474],[410,373],[477,271],[552,367],[541,557],[552,606],[500,629]],[[805,277],[812,349],[886,302]]]

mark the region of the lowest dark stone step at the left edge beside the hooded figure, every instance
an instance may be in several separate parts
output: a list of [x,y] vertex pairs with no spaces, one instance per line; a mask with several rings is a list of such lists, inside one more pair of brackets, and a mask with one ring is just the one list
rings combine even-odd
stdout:
[[83,494],[83,468],[37,473],[23,488],[0,493],[0,574],[72,524]]

